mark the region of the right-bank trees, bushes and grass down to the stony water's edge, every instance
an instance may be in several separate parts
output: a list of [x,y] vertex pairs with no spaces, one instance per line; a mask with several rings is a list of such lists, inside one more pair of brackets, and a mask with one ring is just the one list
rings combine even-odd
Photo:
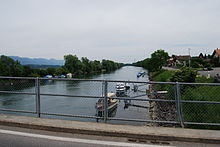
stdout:
[[[188,82],[188,83],[215,83],[217,80],[212,77],[198,75],[197,68],[182,66],[179,70],[170,71],[162,69],[162,66],[167,65],[168,53],[164,50],[158,50],[151,54],[151,58],[144,59],[133,63],[135,66],[140,66],[149,71],[149,77],[152,81],[158,82]],[[158,61],[158,62],[157,62]],[[199,59],[194,60],[199,61]],[[193,63],[195,64],[195,63]],[[196,65],[196,64],[195,64]],[[206,66],[210,67],[210,65]],[[201,69],[201,68],[200,68]],[[150,98],[175,99],[174,89],[171,85],[155,84],[150,87],[152,91],[167,91],[166,95]],[[218,91],[219,86],[209,85],[181,85],[181,99],[190,101],[220,101]],[[176,121],[176,106],[170,102],[150,102],[150,116],[153,120],[161,121]],[[187,122],[202,122],[202,123],[219,123],[220,106],[219,104],[206,103],[182,103],[183,119]],[[167,126],[158,124],[159,126]],[[170,126],[170,125],[168,125]],[[175,125],[173,125],[175,126]],[[196,126],[186,125],[188,128],[198,129],[220,129],[219,126]]]

